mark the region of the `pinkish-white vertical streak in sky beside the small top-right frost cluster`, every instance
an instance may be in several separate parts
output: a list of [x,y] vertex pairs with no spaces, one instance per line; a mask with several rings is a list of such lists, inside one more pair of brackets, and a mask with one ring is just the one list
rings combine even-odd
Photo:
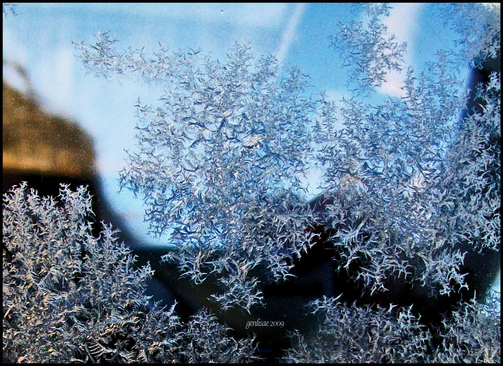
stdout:
[[[404,66],[413,66],[411,58],[412,47],[414,44],[414,35],[418,25],[418,15],[424,4],[405,3],[394,4],[390,10],[389,17],[384,19],[383,23],[388,28],[388,33],[393,34],[398,43],[407,42],[407,53],[404,57]],[[389,72],[386,75],[385,82],[379,88],[382,93],[397,97],[403,96],[403,86],[405,73],[397,71]]]

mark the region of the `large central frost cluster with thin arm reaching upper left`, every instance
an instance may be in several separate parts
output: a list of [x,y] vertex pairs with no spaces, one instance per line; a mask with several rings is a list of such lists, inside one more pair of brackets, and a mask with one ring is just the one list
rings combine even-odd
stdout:
[[[305,201],[299,177],[314,111],[304,95],[308,78],[281,71],[272,55],[255,59],[248,44],[236,44],[225,63],[163,47],[144,62],[141,50],[116,53],[108,33],[97,38],[91,49],[76,45],[90,70],[168,86],[160,106],[137,104],[139,151],[128,153],[121,187],[143,197],[152,232],[172,230],[179,250],[166,260],[196,283],[225,273],[225,295],[216,295],[223,309],[249,310],[262,295],[248,272],[261,264],[283,279],[285,259],[309,245],[300,235],[307,217],[295,208]],[[219,260],[205,263],[215,252]]]

